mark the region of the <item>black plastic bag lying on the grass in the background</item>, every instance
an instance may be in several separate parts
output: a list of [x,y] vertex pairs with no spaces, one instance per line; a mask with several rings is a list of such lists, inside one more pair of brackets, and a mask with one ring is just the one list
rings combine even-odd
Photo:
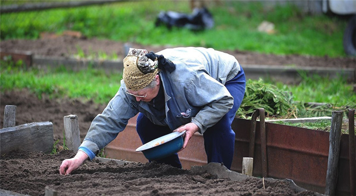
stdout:
[[158,14],[156,26],[161,24],[168,28],[172,26],[184,27],[190,30],[209,29],[214,26],[213,15],[206,8],[195,8],[192,14],[184,14],[173,11]]

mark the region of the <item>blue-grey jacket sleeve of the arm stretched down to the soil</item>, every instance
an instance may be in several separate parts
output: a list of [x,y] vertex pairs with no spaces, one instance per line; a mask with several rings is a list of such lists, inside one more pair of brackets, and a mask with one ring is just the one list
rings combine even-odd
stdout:
[[129,101],[123,84],[121,84],[120,89],[104,111],[92,121],[79,150],[84,151],[92,160],[100,149],[125,129],[128,120],[138,113],[136,108],[134,102]]

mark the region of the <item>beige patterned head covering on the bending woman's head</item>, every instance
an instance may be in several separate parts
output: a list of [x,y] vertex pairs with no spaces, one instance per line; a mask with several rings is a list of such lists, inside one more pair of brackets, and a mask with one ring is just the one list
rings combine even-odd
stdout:
[[137,91],[149,85],[159,72],[158,61],[148,58],[144,49],[130,48],[124,58],[123,79],[126,88]]

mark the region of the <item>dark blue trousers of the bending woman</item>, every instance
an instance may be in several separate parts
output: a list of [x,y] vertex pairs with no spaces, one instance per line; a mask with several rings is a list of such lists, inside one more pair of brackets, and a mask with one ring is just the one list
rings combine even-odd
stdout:
[[[231,129],[231,123],[242,103],[246,88],[246,78],[242,68],[238,75],[225,83],[225,87],[234,98],[233,107],[214,126],[206,129],[203,138],[207,162],[223,163],[226,168],[230,169],[235,145],[235,133]],[[136,129],[142,144],[172,133],[168,126],[156,125],[142,113],[139,113],[137,117]],[[177,153],[157,162],[182,168]]]

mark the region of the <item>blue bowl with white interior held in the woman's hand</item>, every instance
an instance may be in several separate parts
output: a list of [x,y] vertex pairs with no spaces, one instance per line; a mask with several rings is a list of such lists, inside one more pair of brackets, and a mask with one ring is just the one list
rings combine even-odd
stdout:
[[136,149],[136,152],[142,152],[143,155],[149,160],[159,160],[165,158],[171,154],[178,152],[183,147],[183,134],[186,133],[184,130],[182,133],[173,132],[152,140]]

